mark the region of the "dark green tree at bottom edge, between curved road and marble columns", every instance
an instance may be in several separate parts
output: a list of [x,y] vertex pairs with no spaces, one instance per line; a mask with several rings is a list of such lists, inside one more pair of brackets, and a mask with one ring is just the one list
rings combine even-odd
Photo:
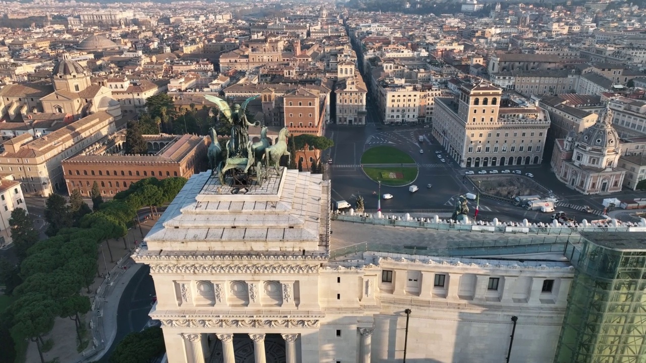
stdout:
[[119,342],[110,363],[149,363],[166,351],[161,327],[149,327],[144,331],[130,333]]

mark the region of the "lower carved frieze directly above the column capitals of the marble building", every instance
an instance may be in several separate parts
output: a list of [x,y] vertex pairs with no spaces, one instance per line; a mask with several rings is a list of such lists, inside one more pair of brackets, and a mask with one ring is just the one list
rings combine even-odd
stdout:
[[318,319],[160,319],[165,327],[295,327],[315,328],[320,326]]

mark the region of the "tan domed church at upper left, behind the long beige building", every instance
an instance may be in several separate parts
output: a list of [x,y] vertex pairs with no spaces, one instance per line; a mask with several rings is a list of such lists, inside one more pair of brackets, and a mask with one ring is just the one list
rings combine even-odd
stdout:
[[71,114],[80,119],[97,111],[107,111],[121,117],[119,102],[112,91],[101,85],[92,85],[90,72],[64,53],[52,70],[54,92],[41,98],[43,112]]

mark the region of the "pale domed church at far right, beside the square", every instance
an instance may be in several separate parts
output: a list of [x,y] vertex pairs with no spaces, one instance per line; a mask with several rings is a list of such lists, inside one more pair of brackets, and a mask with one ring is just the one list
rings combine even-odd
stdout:
[[568,132],[557,139],[552,154],[556,178],[583,194],[621,191],[625,171],[617,169],[621,156],[619,136],[612,127],[612,110],[606,109],[594,125],[578,135]]

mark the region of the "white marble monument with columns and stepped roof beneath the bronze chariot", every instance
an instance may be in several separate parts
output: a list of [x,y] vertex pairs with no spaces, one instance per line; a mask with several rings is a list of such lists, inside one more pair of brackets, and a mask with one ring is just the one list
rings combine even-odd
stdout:
[[288,363],[397,362],[407,308],[409,362],[503,361],[514,315],[513,361],[554,359],[567,262],[329,261],[329,193],[320,175],[284,169],[246,194],[207,172],[189,180],[133,254],[151,265],[169,363],[240,362],[238,337],[273,363],[269,335]]

